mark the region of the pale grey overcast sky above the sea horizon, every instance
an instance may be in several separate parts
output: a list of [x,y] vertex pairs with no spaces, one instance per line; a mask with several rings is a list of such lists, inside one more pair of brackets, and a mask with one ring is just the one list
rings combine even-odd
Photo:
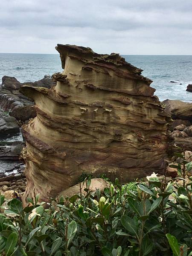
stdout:
[[192,54],[192,0],[0,0],[0,52]]

